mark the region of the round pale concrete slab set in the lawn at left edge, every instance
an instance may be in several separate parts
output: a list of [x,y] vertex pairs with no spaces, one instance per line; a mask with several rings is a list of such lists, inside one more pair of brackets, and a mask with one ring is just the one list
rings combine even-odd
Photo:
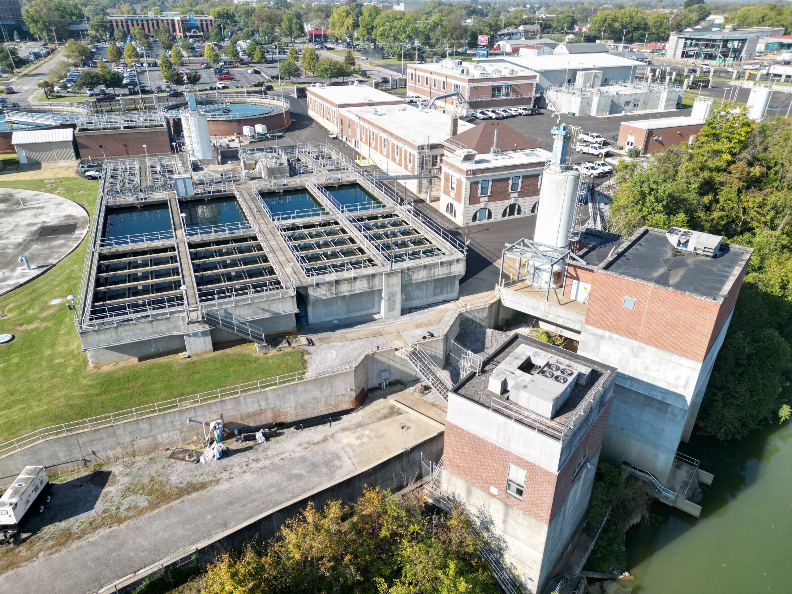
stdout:
[[[0,188],[0,295],[63,260],[82,242],[88,223],[86,211],[62,196]],[[28,258],[31,270],[19,263],[20,256]]]

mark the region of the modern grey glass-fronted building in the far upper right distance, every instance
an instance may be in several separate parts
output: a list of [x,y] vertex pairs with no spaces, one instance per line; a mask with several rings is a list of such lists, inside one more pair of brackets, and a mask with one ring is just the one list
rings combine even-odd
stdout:
[[783,27],[737,27],[717,31],[680,31],[668,37],[666,56],[673,59],[751,60],[762,37],[783,35]]

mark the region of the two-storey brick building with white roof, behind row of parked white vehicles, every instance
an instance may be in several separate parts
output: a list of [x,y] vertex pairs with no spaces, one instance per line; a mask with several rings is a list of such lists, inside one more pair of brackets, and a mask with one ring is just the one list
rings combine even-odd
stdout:
[[462,60],[444,59],[433,64],[407,66],[407,93],[437,99],[446,109],[460,115],[474,109],[533,106],[538,97],[537,75],[514,67],[489,69]]

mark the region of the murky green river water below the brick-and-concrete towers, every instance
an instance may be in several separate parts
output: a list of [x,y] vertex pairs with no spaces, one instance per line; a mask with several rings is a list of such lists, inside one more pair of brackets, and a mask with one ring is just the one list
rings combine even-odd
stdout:
[[[696,520],[653,505],[627,538],[633,594],[792,592],[792,424],[741,441],[694,436],[680,451],[715,475]],[[621,589],[621,588],[619,588]]]

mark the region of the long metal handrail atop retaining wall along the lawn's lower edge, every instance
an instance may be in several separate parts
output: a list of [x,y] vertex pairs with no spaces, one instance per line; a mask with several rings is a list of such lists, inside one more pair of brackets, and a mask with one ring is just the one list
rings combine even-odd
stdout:
[[[351,360],[344,361],[341,364],[329,365],[322,367],[319,371],[311,371],[310,377],[317,377],[318,375],[329,375],[337,373],[337,371],[344,371],[345,369],[352,368],[353,362]],[[203,404],[213,400],[222,400],[231,396],[239,396],[241,394],[249,394],[264,390],[272,386],[281,386],[285,383],[297,382],[307,377],[308,370],[293,371],[283,375],[275,375],[265,379],[257,379],[252,382],[240,383],[236,386],[219,388],[218,390],[209,390],[207,392],[200,392],[198,394],[191,394],[182,398],[171,398],[170,400],[163,400],[162,402],[154,402],[153,404],[135,406],[131,409],[124,409],[115,413],[107,413],[97,415],[96,417],[88,417],[80,419],[79,421],[70,421],[68,423],[61,423],[60,425],[51,425],[36,429],[23,436],[8,440],[0,444],[0,455],[9,450],[20,450],[30,444],[35,444],[59,435],[67,435],[72,432],[82,431],[83,429],[92,429],[105,425],[114,425],[120,421],[128,421],[129,419],[136,419],[144,417],[148,414],[164,413],[168,410],[181,409],[185,406],[192,406],[193,404]]]

